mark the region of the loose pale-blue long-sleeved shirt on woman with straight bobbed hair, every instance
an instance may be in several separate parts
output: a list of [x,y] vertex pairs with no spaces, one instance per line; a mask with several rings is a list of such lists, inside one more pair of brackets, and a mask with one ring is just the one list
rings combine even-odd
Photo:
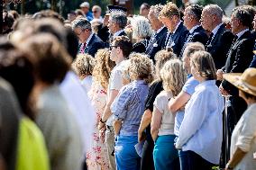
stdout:
[[191,150],[213,164],[219,164],[223,139],[224,98],[208,80],[197,85],[186,105],[179,129],[177,148]]

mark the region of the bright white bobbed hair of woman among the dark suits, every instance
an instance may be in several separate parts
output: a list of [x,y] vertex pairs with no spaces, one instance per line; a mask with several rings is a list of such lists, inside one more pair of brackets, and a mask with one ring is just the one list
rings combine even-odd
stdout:
[[145,39],[151,36],[151,24],[144,16],[134,16],[131,23],[133,26],[133,38]]

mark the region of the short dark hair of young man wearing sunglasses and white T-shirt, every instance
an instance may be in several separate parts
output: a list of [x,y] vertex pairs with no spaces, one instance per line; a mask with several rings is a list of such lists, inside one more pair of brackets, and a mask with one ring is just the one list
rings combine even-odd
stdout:
[[113,40],[114,46],[120,47],[123,57],[128,58],[133,49],[133,42],[127,36],[117,36]]

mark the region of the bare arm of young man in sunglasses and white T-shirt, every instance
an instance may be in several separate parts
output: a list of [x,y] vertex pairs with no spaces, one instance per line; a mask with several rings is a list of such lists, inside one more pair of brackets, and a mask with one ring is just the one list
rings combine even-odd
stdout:
[[[101,117],[102,121],[104,121],[104,122],[107,121],[107,119],[112,115],[112,112],[110,111],[110,106],[114,102],[114,99],[117,96],[118,92],[119,92],[118,90],[111,90],[110,91],[109,99],[108,99],[108,101],[105,105],[105,110],[104,110],[103,115]],[[99,130],[102,129],[104,127],[104,125],[105,124],[103,122],[99,122],[98,129]]]

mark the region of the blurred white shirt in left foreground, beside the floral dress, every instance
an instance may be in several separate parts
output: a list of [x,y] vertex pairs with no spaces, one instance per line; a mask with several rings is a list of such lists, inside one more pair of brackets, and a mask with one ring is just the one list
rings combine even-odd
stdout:
[[60,84],[60,91],[68,102],[69,108],[75,114],[84,144],[84,157],[86,157],[87,150],[92,145],[92,139],[89,137],[96,124],[95,110],[87,96],[86,88],[83,87],[74,72],[69,71],[67,73]]

